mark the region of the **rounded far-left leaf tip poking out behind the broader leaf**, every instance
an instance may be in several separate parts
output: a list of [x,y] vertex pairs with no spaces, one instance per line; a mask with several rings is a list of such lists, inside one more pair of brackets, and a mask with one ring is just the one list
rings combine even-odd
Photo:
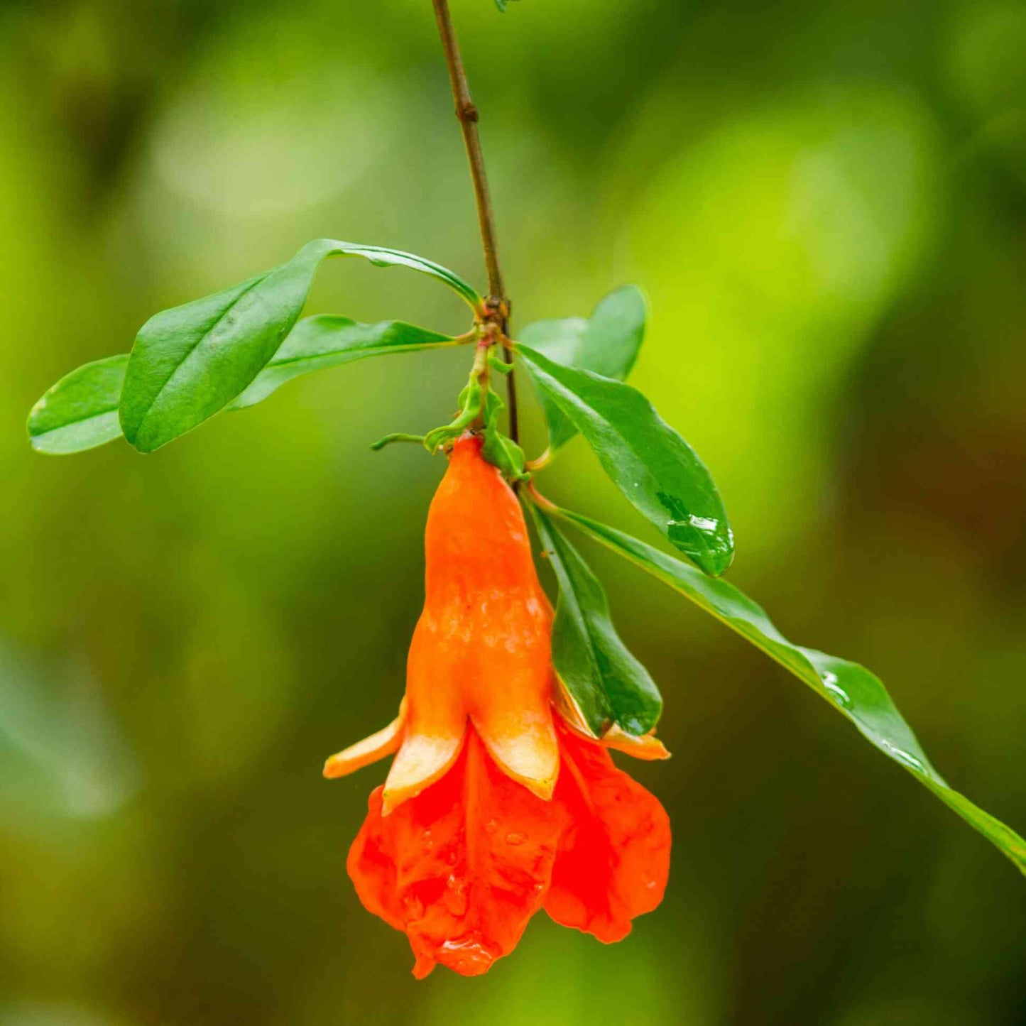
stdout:
[[76,368],[32,407],[29,440],[39,452],[82,452],[121,434],[118,402],[127,353]]

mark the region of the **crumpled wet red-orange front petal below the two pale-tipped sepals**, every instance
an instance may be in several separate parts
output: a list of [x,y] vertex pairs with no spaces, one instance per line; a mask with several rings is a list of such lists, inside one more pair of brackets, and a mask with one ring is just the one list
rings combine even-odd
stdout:
[[366,908],[405,931],[418,978],[509,954],[542,906],[563,810],[506,777],[469,732],[457,764],[383,817],[379,792],[349,855]]

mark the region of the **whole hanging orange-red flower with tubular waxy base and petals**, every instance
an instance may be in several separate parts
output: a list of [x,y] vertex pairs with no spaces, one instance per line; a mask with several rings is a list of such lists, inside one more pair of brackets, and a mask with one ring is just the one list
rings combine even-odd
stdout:
[[426,552],[399,716],[324,766],[342,777],[396,753],[349,853],[356,892],[406,934],[418,978],[438,962],[486,972],[543,907],[618,941],[662,901],[670,824],[606,748],[668,753],[652,736],[584,738],[556,712],[552,609],[477,437],[452,448]]

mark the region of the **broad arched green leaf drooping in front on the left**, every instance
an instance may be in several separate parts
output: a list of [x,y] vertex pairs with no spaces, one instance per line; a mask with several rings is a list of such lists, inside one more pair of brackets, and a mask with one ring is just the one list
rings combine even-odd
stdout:
[[132,347],[121,397],[121,429],[142,452],[191,431],[240,395],[277,352],[327,256],[362,256],[379,267],[407,267],[453,288],[473,308],[481,299],[431,261],[379,246],[333,239],[307,243],[265,274],[143,325]]

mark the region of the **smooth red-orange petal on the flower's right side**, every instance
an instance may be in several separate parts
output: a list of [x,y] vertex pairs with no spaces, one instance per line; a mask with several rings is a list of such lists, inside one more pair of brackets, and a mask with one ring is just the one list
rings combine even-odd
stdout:
[[574,826],[564,834],[545,910],[556,922],[610,943],[663,900],[670,871],[670,820],[658,799],[595,742],[560,729],[563,765],[554,803]]

